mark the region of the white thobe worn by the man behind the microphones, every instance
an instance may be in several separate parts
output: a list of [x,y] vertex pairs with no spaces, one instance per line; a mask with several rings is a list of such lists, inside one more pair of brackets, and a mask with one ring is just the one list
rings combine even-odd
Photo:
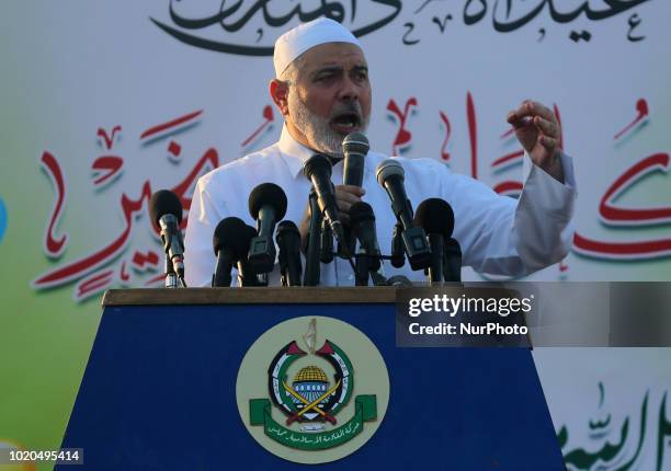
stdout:
[[[248,211],[250,192],[259,184],[280,185],[288,200],[286,216],[297,225],[303,218],[310,182],[303,174],[303,164],[314,151],[297,142],[283,128],[278,142],[219,166],[203,175],[196,185],[185,238],[184,265],[189,286],[209,286],[216,259],[212,237],[217,223],[236,216],[255,226]],[[375,169],[387,159],[371,151],[365,158],[363,200],[375,212],[377,238],[384,255],[391,250],[396,217],[386,191],[377,183]],[[469,176],[452,172],[434,159],[396,157],[405,170],[405,186],[413,207],[427,198],[442,198],[454,211],[453,237],[463,253],[463,264],[480,273],[522,276],[559,262],[570,249],[571,217],[576,183],[571,159],[561,154],[565,183],[560,183],[536,165],[532,165],[519,199],[500,196],[489,186]],[[525,157],[526,159],[526,157]],[[333,165],[332,182],[342,184],[342,162]],[[388,261],[384,275],[425,279],[423,272],[412,272],[409,263],[394,268]],[[270,285],[280,284],[280,268],[269,276]],[[321,264],[320,284],[353,286],[354,274],[349,263],[336,257]]]

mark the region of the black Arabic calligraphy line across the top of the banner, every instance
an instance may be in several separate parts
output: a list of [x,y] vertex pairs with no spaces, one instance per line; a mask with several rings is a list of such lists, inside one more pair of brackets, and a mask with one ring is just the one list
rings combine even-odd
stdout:
[[[490,15],[493,30],[507,34],[520,31],[534,21],[549,20],[557,25],[569,24],[580,19],[602,22],[625,14],[649,1],[607,0],[603,5],[593,8],[589,0],[578,4],[572,2],[570,5],[554,0],[464,0],[458,14],[453,2],[427,0],[411,11],[409,16],[401,20],[400,41],[406,46],[414,46],[422,41],[429,28],[435,28],[443,35],[448,31],[448,22],[459,18],[464,25],[475,26]],[[273,44],[277,36],[298,22],[305,23],[321,16],[330,18],[343,23],[355,36],[362,37],[391,26],[402,10],[401,0],[350,0],[349,2],[296,0],[284,3],[271,0],[237,0],[221,1],[216,5],[213,2],[213,8],[206,13],[203,13],[203,10],[207,10],[202,5],[194,8],[196,3],[193,0],[170,0],[168,3],[164,20],[159,19],[159,15],[149,20],[174,39],[201,49],[257,57],[272,56]],[[193,10],[197,10],[198,13],[194,13]],[[543,15],[544,12],[546,16]],[[362,18],[372,20],[362,24]],[[630,13],[626,23],[627,41],[638,43],[646,38],[645,34],[639,34],[641,23],[642,18],[637,12]],[[544,24],[537,28],[537,32],[536,42],[542,42],[548,33],[548,25]],[[568,38],[573,43],[588,43],[592,38],[592,33],[588,30],[571,30]]]

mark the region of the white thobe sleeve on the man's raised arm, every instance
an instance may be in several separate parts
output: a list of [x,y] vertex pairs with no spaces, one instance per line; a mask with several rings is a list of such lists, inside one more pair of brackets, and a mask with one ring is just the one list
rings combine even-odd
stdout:
[[560,159],[565,183],[533,165],[519,200],[465,175],[446,179],[443,198],[455,212],[454,238],[462,245],[464,265],[486,274],[523,276],[566,256],[576,182],[571,159]]

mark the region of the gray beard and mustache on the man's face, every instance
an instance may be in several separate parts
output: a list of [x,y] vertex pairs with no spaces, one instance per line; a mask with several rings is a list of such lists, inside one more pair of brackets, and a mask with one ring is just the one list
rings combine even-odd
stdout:
[[[359,102],[355,103],[348,111],[353,110],[363,115],[361,105]],[[342,140],[344,136],[336,133],[329,126],[330,119],[322,118],[319,115],[314,114],[308,107],[300,101],[297,93],[288,94],[288,107],[289,113],[294,116],[294,125],[305,135],[309,142],[315,147],[314,150],[323,152],[334,159],[342,159]],[[338,110],[337,112],[341,112]],[[368,120],[364,119],[362,124],[362,133],[365,133],[368,128]]]

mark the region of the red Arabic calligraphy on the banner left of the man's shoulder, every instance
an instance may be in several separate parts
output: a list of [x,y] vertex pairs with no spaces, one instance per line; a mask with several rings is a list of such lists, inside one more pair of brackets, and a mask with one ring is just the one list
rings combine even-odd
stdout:
[[[202,110],[196,111],[149,127],[140,134],[140,149],[151,148],[152,145],[162,142],[171,136],[172,138],[167,145],[168,153],[169,156],[179,157],[181,154],[181,146],[174,140],[175,133],[183,133],[193,128],[197,124],[197,118],[202,113]],[[107,133],[103,128],[98,129],[96,135],[102,138],[105,151],[112,150],[118,137],[118,133],[121,131],[122,126],[114,126],[111,133]],[[56,203],[49,216],[45,233],[44,252],[50,259],[59,259],[67,245],[68,236],[66,233],[56,236],[55,228],[58,225],[66,204],[67,181],[58,160],[50,152],[45,151],[41,162],[57,191]],[[109,184],[117,181],[121,175],[123,162],[124,160],[116,154],[112,156],[105,153],[96,157],[91,165],[94,187],[100,191],[100,185],[107,184],[109,186]],[[185,177],[171,188],[180,198],[185,210],[189,210],[191,206],[191,197],[187,195],[191,194],[191,189],[195,185],[196,179],[206,170],[215,169],[218,165],[219,158],[217,151],[214,148],[207,149],[195,162],[193,168],[187,170]],[[120,199],[121,212],[123,215],[123,225],[120,232],[102,248],[38,275],[36,279],[32,282],[32,287],[42,290],[76,282],[73,299],[76,301],[82,301],[107,289],[114,283],[120,283],[123,286],[130,284],[133,276],[127,271],[128,266],[133,267],[133,272],[136,274],[156,272],[160,262],[158,253],[162,252],[160,250],[134,248],[132,251],[133,255],[124,257],[134,229],[141,214],[146,210],[146,205],[151,197],[153,187],[155,185],[152,185],[149,180],[146,180],[141,183],[136,198],[128,196],[127,193],[123,193]],[[182,222],[182,229],[186,227],[186,221],[187,218],[185,217]],[[153,227],[151,222],[149,222],[148,226],[153,233],[156,243],[158,243],[158,229]],[[118,266],[110,266],[117,260],[120,261]],[[146,284],[151,285],[161,280],[162,276],[162,274],[155,276]]]

